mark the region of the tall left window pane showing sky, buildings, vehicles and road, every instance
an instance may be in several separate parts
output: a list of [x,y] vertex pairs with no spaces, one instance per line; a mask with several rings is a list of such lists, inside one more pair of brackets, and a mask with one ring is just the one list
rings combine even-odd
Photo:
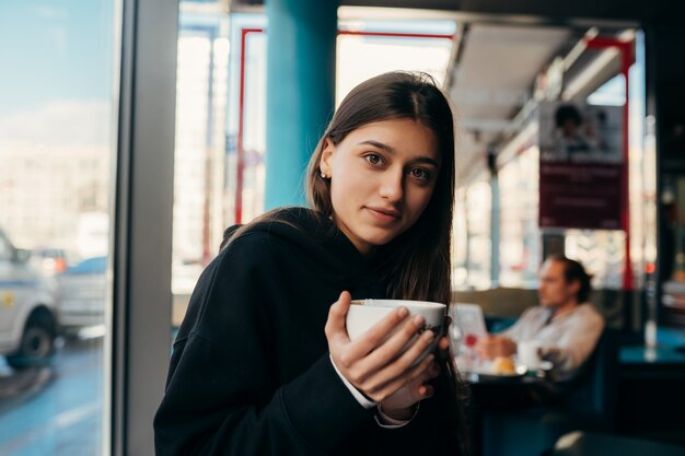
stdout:
[[0,3],[0,454],[101,454],[114,2]]

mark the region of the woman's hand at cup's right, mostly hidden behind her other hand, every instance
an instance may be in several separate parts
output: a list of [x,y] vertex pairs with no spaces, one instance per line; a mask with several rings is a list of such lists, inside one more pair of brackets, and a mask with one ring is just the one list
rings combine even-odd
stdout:
[[[450,340],[446,336],[440,338],[438,349],[440,356],[444,356],[450,348]],[[385,398],[381,404],[381,410],[390,418],[396,420],[408,420],[414,414],[415,405],[423,399],[432,397],[434,388],[427,383],[440,374],[440,365],[433,362],[429,369],[420,373],[416,378],[409,381],[404,387]]]

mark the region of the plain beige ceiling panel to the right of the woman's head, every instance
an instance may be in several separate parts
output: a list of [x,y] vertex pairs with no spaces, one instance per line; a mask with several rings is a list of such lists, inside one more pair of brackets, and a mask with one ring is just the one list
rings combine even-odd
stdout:
[[[483,169],[507,126],[533,93],[536,75],[582,33],[569,27],[476,23],[463,26],[448,75],[457,112],[460,169]],[[466,177],[466,176],[464,176]]]

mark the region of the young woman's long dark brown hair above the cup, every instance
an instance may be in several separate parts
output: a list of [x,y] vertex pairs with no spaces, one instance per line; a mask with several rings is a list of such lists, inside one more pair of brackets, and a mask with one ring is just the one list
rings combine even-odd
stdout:
[[307,167],[310,204],[334,215],[330,183],[321,177],[326,140],[339,144],[357,128],[374,121],[413,119],[438,139],[442,165],[428,207],[419,220],[379,250],[384,258],[388,295],[450,303],[451,234],[454,207],[454,119],[433,79],[419,72],[391,72],[357,85],[342,101],[322,136]]

